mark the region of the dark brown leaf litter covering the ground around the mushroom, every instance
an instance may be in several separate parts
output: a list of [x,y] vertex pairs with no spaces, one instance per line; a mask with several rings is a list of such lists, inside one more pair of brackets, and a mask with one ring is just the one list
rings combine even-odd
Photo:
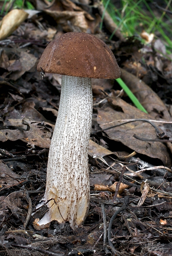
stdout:
[[[142,45],[135,37],[124,38],[118,29],[109,40],[116,24],[105,12],[101,31],[104,7],[98,1],[93,4],[97,9],[87,0],[33,1],[36,10],[3,14],[2,256],[171,255],[171,59],[160,39]],[[13,11],[20,19],[11,20]],[[9,23],[11,27],[4,32]],[[94,33],[109,45],[121,78],[148,111],[145,114],[132,106],[115,81],[93,79],[91,202],[85,223],[75,231],[57,221],[39,226],[46,204],[35,211],[45,191],[48,149],[61,91],[61,76],[46,74],[42,80],[36,65],[49,41],[69,31]]]

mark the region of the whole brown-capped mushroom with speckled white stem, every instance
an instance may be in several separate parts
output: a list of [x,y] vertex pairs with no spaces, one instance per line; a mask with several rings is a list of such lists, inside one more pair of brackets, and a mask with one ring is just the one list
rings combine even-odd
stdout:
[[68,32],[51,41],[37,71],[62,75],[59,112],[47,165],[44,201],[49,210],[40,220],[85,220],[90,202],[88,146],[92,120],[91,78],[116,79],[120,69],[110,48],[88,33]]

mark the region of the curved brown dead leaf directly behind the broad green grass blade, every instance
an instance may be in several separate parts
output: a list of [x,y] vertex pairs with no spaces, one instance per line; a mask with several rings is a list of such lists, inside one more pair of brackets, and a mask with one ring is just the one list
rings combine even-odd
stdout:
[[[154,118],[171,119],[171,116],[158,95],[142,80],[120,68],[121,79],[126,83],[139,102]],[[159,114],[158,114],[159,113]],[[163,117],[162,117],[163,115]]]

